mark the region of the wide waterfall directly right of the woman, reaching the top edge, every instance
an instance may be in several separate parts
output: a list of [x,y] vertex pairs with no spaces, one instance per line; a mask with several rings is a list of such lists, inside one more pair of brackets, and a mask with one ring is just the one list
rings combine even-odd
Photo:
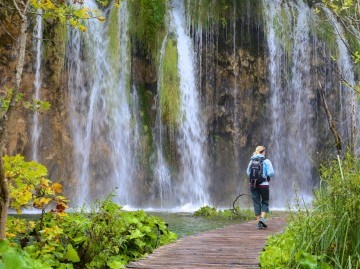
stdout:
[[[269,155],[277,172],[276,187],[271,191],[273,205],[283,207],[286,202],[292,202],[294,192],[309,201],[314,186],[311,161],[316,148],[314,108],[311,106],[314,93],[309,85],[312,44],[308,21],[311,11],[302,1],[287,6],[289,21],[297,14],[294,30],[290,37],[288,32],[279,36],[276,33],[276,30],[281,32],[279,27],[290,26],[290,23],[277,21],[284,12],[281,1],[264,0],[263,5],[270,59],[272,137]],[[289,48],[284,47],[286,42],[281,38],[290,38],[289,54],[285,53]],[[290,57],[288,61],[287,57]]]

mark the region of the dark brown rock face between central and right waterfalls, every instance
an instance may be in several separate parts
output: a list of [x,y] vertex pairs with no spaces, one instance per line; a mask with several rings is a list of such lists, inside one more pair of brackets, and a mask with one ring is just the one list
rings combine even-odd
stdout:
[[[220,34],[218,38],[222,41],[218,46],[206,45],[208,55],[212,57],[203,55],[208,60],[202,63],[210,169],[214,175],[212,197],[224,204],[229,202],[226,197],[232,197],[234,190],[247,189],[245,169],[248,158],[254,145],[263,143],[268,135],[262,131],[270,94],[268,60],[260,43],[263,33],[258,28],[255,33],[243,35],[234,42],[231,33]],[[260,39],[251,44],[241,42],[249,35]],[[261,45],[254,48],[254,44]],[[212,48],[210,52],[209,48]]]

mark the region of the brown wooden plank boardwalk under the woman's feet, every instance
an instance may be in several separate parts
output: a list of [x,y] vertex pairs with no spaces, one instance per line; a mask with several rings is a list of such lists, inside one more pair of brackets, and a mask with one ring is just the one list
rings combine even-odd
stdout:
[[285,218],[270,218],[267,223],[263,230],[250,221],[187,236],[129,263],[127,268],[260,268],[259,253],[266,239],[284,228]]

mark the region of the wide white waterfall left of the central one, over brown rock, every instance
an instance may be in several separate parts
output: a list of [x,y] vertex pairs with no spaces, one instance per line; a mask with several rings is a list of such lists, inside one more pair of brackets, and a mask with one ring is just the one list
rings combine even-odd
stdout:
[[[85,5],[97,7],[91,0]],[[119,203],[130,201],[134,152],[125,1],[118,12],[112,16],[113,21],[87,21],[85,33],[70,30],[68,88],[76,205],[91,202],[114,189]],[[112,28],[111,23],[115,24]],[[111,40],[109,32],[113,34]]]

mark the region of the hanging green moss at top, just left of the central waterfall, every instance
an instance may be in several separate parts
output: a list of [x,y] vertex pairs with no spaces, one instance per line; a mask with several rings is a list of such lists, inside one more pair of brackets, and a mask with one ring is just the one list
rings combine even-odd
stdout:
[[164,35],[166,0],[130,1],[130,31],[141,49],[155,58]]

